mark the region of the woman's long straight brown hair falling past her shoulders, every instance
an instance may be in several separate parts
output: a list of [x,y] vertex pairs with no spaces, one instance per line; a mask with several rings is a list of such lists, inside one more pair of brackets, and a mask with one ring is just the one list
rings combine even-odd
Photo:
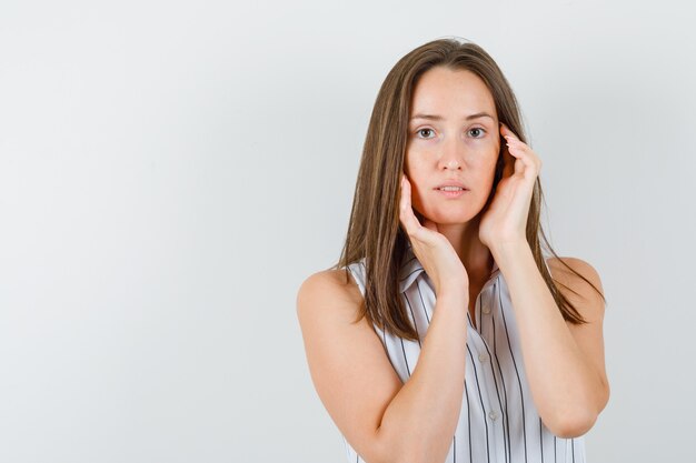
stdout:
[[[411,94],[420,76],[436,66],[468,70],[477,74],[493,94],[498,120],[526,142],[517,99],[510,84],[493,58],[475,43],[459,43],[454,39],[428,42],[401,58],[385,79],[367,129],[346,243],[339,262],[332,269],[346,268],[348,282],[350,276],[347,266],[365,259],[365,299],[356,322],[367,316],[368,321],[380,329],[414,341],[418,335],[398,291],[399,268],[408,245],[408,235],[399,222],[399,185],[404,171]],[[503,155],[499,155],[489,201],[501,174]],[[570,301],[558,291],[546,268],[541,240],[555,256],[558,255],[540,225],[541,201],[541,184],[537,178],[527,217],[527,241],[564,319],[574,324],[587,323]],[[601,295],[585,276],[563,263]]]

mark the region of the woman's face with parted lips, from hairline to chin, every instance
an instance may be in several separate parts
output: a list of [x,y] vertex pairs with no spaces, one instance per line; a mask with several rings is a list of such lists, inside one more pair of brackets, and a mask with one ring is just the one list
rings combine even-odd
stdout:
[[405,170],[414,209],[438,224],[468,222],[488,200],[500,151],[490,91],[470,71],[436,67],[420,77],[410,108]]

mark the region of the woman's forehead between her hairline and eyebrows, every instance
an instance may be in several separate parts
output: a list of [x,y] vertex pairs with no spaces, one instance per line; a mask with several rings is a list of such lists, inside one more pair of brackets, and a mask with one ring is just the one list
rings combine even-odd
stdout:
[[493,94],[471,71],[435,67],[426,71],[414,89],[410,113],[460,117],[486,111],[495,114]]

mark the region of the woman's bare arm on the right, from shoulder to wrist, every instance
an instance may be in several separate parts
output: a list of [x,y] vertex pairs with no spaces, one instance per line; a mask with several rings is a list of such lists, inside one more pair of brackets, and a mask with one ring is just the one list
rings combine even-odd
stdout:
[[[601,335],[603,300],[576,275],[560,280],[580,293],[578,298],[564,292],[589,322],[573,325],[559,312],[526,242],[491,251],[508,284],[539,415],[556,435],[585,434],[609,397]],[[587,264],[580,266],[576,270],[601,289],[596,272]],[[554,278],[559,280],[558,272]]]

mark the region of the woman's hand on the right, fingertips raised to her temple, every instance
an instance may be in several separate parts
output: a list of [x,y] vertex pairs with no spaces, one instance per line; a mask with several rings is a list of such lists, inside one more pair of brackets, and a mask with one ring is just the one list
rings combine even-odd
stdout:
[[478,229],[478,238],[488,249],[527,242],[527,215],[541,169],[539,157],[503,122],[500,133],[507,140],[500,154],[505,157],[503,177]]

